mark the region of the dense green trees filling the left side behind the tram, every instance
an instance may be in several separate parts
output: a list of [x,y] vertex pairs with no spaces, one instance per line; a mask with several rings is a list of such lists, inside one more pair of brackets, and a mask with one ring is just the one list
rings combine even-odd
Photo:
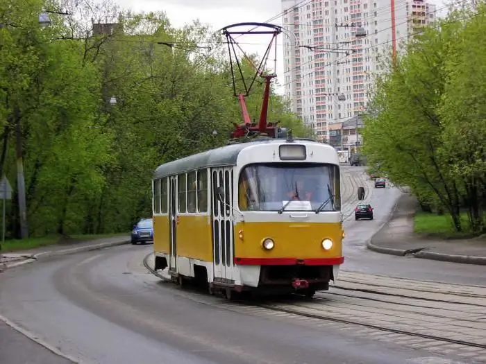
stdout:
[[[72,16],[51,14],[46,28],[38,15],[60,10],[54,4],[0,5],[0,174],[14,187],[10,237],[19,236],[18,140],[31,235],[100,234],[151,215],[159,164],[221,146],[241,123],[224,47],[215,49],[220,40],[208,28],[176,29],[163,13],[119,12],[110,3],[67,3],[62,10]],[[85,25],[92,18],[118,26],[93,36]],[[258,119],[262,85],[255,91],[248,109]],[[279,96],[269,119],[308,134]]]

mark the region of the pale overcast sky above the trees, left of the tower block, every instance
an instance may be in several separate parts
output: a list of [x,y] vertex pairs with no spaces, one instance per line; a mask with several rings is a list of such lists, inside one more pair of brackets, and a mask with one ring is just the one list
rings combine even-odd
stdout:
[[[171,24],[176,27],[199,19],[203,24],[209,24],[215,31],[230,24],[244,21],[265,22],[280,15],[281,0],[115,0],[122,8],[131,8],[136,12],[160,11],[167,13]],[[396,0],[397,3],[403,0]],[[437,8],[444,7],[444,0],[430,0]],[[272,24],[281,25],[279,16]],[[243,51],[262,55],[268,46],[270,37],[267,35],[244,35],[238,38]],[[249,43],[249,44],[244,44]],[[278,36],[277,81],[283,84],[283,35]],[[255,45],[258,44],[258,45]],[[273,61],[274,57],[271,57]],[[274,68],[274,63],[269,64]],[[278,93],[282,93],[281,88]]]

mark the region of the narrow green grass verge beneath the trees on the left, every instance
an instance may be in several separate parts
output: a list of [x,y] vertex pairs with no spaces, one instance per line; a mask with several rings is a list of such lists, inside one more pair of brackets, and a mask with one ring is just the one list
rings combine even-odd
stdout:
[[76,244],[81,243],[81,241],[88,241],[94,239],[111,238],[115,236],[129,235],[129,232],[119,233],[119,234],[87,234],[87,235],[72,235],[66,236],[44,236],[42,238],[29,238],[29,239],[13,239],[7,240],[5,243],[1,244],[0,252],[15,252],[17,250],[29,250],[40,248],[48,245],[56,244]]

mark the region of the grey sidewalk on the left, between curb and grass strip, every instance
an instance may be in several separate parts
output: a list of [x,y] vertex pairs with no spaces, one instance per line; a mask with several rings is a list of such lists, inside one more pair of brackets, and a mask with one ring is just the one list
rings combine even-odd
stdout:
[[0,272],[8,268],[15,268],[17,266],[22,266],[23,264],[32,263],[38,259],[77,252],[87,252],[89,250],[99,250],[127,243],[130,243],[129,235],[100,238],[90,241],[77,241],[76,243],[69,244],[49,245],[11,253],[0,253]]

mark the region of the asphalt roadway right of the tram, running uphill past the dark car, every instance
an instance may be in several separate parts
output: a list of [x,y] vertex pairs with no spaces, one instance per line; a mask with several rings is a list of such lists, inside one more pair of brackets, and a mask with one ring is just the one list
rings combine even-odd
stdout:
[[[344,167],[344,173],[349,173],[355,184],[363,184],[364,167]],[[346,179],[344,179],[346,180]],[[367,180],[367,201],[374,207],[374,220],[358,220],[349,216],[344,227],[344,264],[342,270],[363,272],[387,277],[406,277],[421,281],[442,281],[451,284],[467,284],[486,286],[486,270],[484,266],[449,263],[446,261],[431,261],[412,257],[395,257],[372,252],[366,248],[366,241],[371,239],[383,226],[394,207],[400,191],[396,188],[375,189],[371,180]],[[356,193],[354,193],[356,194]],[[344,207],[350,211],[358,202],[356,196]],[[344,200],[345,198],[343,198]],[[352,211],[351,211],[352,212]]]

